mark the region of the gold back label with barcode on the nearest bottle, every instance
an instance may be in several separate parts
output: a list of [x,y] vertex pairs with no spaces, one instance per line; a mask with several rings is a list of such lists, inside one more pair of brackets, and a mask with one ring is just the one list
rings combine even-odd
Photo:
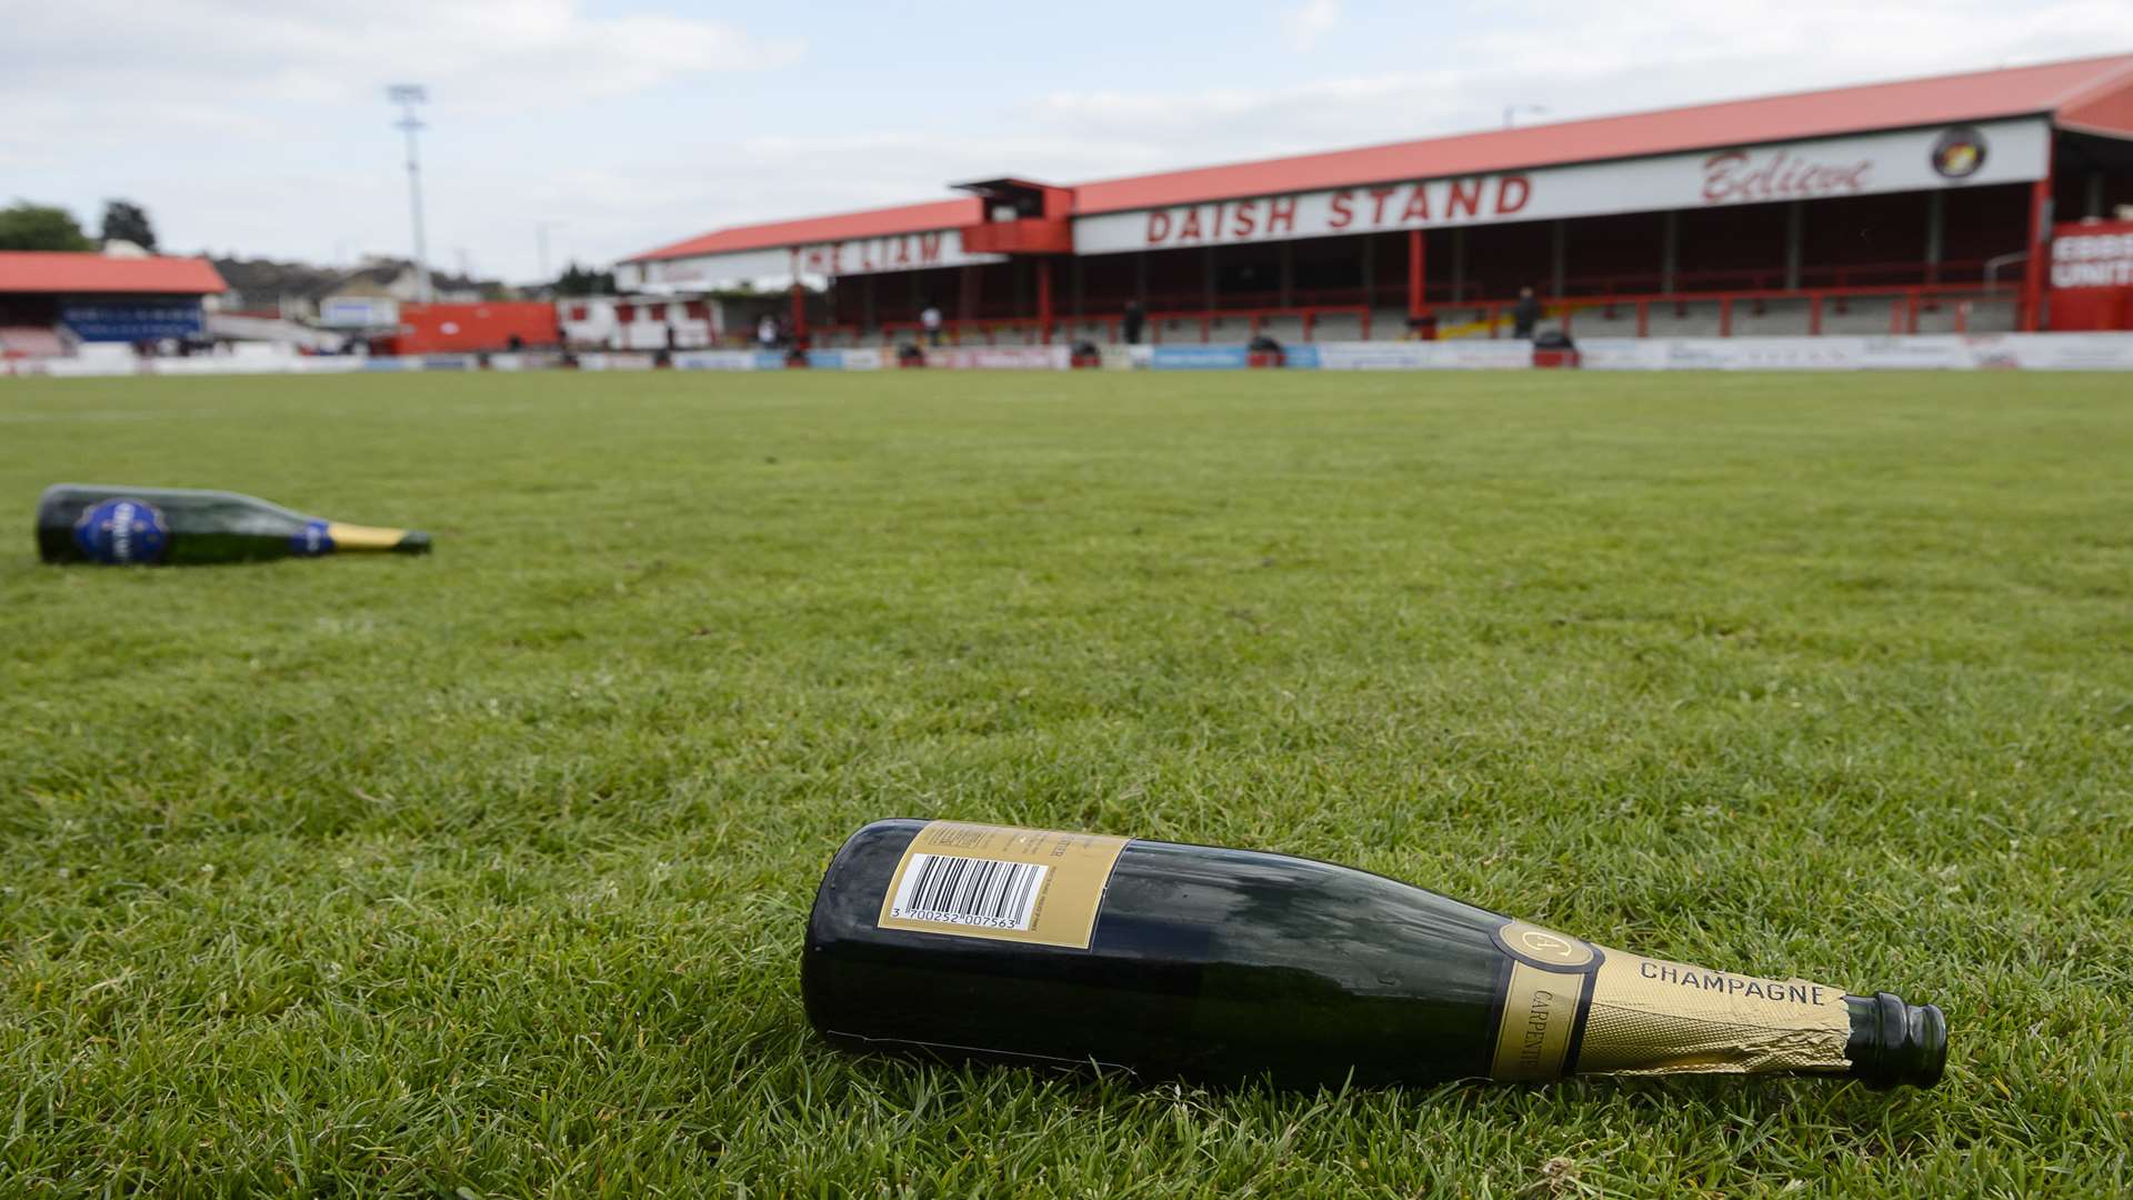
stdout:
[[936,820],[904,848],[877,925],[1088,950],[1126,841]]

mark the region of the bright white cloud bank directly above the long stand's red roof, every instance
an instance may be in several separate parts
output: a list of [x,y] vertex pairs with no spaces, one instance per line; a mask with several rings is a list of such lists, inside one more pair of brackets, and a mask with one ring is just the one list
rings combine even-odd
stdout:
[[1408,73],[1284,88],[1066,90],[1032,100],[1030,115],[1047,137],[1192,167],[1495,128],[1506,105],[1546,105],[1546,120],[1570,120],[2133,45],[2133,4],[2092,0],[2031,9],[1544,0],[1517,13],[1463,32],[1455,53]]

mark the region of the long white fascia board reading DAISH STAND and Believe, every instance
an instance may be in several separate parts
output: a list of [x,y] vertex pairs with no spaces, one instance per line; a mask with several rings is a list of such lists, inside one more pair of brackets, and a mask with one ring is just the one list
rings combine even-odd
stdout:
[[2041,117],[1534,171],[1423,177],[1077,218],[1077,254],[1819,201],[2041,179]]

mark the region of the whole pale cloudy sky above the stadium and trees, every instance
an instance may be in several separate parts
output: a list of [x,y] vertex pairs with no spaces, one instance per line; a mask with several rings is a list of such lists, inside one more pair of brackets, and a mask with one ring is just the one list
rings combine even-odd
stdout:
[[[2133,2],[0,0],[0,203],[540,278],[727,224],[2133,51]],[[1534,111],[1540,107],[1544,111]]]

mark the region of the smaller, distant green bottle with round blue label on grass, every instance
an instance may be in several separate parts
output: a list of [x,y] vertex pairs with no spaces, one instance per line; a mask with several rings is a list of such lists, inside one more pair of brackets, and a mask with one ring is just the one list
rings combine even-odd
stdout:
[[348,551],[427,553],[429,534],[305,517],[235,491],[55,483],[36,502],[45,562],[222,564]]

